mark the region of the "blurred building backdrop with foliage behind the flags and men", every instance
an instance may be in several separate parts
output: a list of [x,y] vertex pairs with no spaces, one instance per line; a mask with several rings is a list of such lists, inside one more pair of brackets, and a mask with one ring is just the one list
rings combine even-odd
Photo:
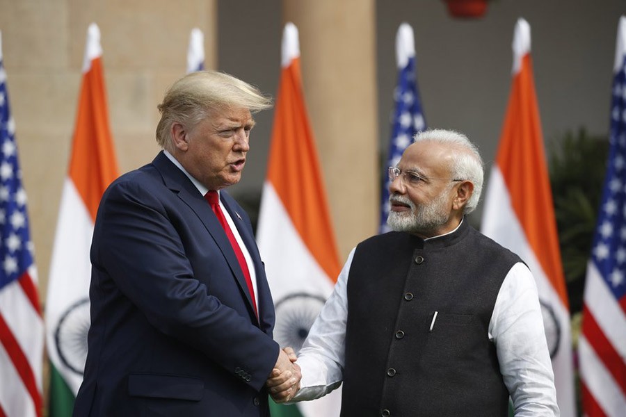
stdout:
[[[565,265],[570,310],[577,313],[595,225],[598,196],[593,194],[600,192],[607,156],[616,29],[623,13],[626,4],[620,0],[491,0],[485,15],[476,18],[454,17],[444,0],[0,0],[3,60],[29,197],[40,300],[45,304],[91,22],[102,33],[121,172],[149,163],[159,151],[157,104],[186,72],[192,28],[204,33],[207,69],[228,72],[275,96],[282,29],[286,22],[296,24],[303,92],[343,263],[353,246],[378,230],[399,25],[407,22],[415,31],[426,124],[467,134],[479,145],[489,172],[511,90],[513,27],[524,17],[531,26],[555,204],[559,193],[579,187],[589,197],[583,204],[593,207],[586,219],[588,237],[575,236],[578,252],[570,260],[563,252],[564,265],[570,262]],[[266,174],[273,111],[255,119],[246,171],[230,189],[252,220]],[[561,204],[571,208],[567,201]],[[481,211],[482,204],[470,215],[475,227]],[[557,207],[558,221],[575,221],[566,217],[572,213],[559,213]],[[562,245],[566,238],[561,236]]]

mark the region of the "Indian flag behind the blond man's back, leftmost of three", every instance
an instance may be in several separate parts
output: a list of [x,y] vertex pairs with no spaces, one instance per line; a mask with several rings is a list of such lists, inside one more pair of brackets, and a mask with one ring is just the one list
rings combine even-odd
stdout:
[[118,172],[106,110],[100,31],[96,24],[91,24],[70,170],[63,184],[48,282],[50,417],[72,414],[83,380],[90,326],[89,250],[93,224],[100,198]]

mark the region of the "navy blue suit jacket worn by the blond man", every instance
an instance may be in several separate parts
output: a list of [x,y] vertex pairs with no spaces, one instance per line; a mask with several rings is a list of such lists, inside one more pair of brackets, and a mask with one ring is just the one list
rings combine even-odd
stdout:
[[74,416],[268,415],[273,303],[248,215],[220,195],[254,261],[259,320],[211,207],[161,152],[100,202]]

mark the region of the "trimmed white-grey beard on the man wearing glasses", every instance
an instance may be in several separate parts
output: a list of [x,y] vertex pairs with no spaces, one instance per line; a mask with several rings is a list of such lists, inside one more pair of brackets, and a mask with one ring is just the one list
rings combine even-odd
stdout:
[[431,204],[415,204],[407,197],[398,194],[392,194],[389,201],[406,204],[410,208],[407,212],[390,211],[387,225],[394,231],[429,234],[450,220],[447,193],[441,193]]

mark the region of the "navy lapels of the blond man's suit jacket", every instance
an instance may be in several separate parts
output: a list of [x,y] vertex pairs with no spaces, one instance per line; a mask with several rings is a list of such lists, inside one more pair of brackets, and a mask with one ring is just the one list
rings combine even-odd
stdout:
[[[252,298],[250,297],[250,293],[248,291],[248,284],[246,284],[246,278],[243,277],[243,272],[241,271],[241,267],[239,266],[239,261],[237,261],[234,250],[232,250],[232,245],[230,245],[230,241],[228,240],[228,237],[226,236],[222,225],[220,224],[215,213],[211,209],[211,206],[209,206],[209,203],[207,203],[207,200],[204,199],[204,196],[200,194],[198,188],[195,188],[193,183],[186,177],[184,172],[179,170],[179,168],[174,165],[172,161],[170,161],[168,157],[163,154],[163,152],[160,152],[157,157],[154,158],[154,161],[152,161],[152,163],[155,167],[157,167],[157,170],[161,172],[161,175],[163,176],[163,181],[165,182],[166,186],[170,188],[170,190],[177,193],[178,197],[182,199],[182,201],[187,204],[191,208],[191,210],[195,212],[196,215],[198,215],[198,218],[200,219],[202,224],[204,224],[204,227],[207,228],[207,231],[209,231],[209,234],[215,240],[215,243],[218,245],[224,258],[226,259],[226,262],[228,263],[228,266],[230,267],[230,270],[232,271],[232,274],[234,275],[237,284],[239,284],[241,292],[246,297],[246,300],[248,301],[248,310],[250,311],[252,316],[255,316],[254,309],[252,308]],[[233,217],[233,212],[230,210],[230,208],[227,209],[231,217]],[[240,218],[237,217],[237,215],[234,215],[233,220],[241,221]],[[243,238],[241,229],[245,228],[241,228],[238,226],[237,229],[239,230],[239,234],[241,234]],[[246,238],[243,238],[243,241],[246,243],[246,247],[248,247],[248,251],[250,252],[250,254],[252,254],[249,241]],[[252,240],[252,243],[253,242],[254,240]],[[256,249],[256,245],[254,245],[253,247],[255,247]],[[255,256],[252,256],[252,258],[254,259]],[[256,262],[255,268],[256,271],[259,270],[257,268]]]

